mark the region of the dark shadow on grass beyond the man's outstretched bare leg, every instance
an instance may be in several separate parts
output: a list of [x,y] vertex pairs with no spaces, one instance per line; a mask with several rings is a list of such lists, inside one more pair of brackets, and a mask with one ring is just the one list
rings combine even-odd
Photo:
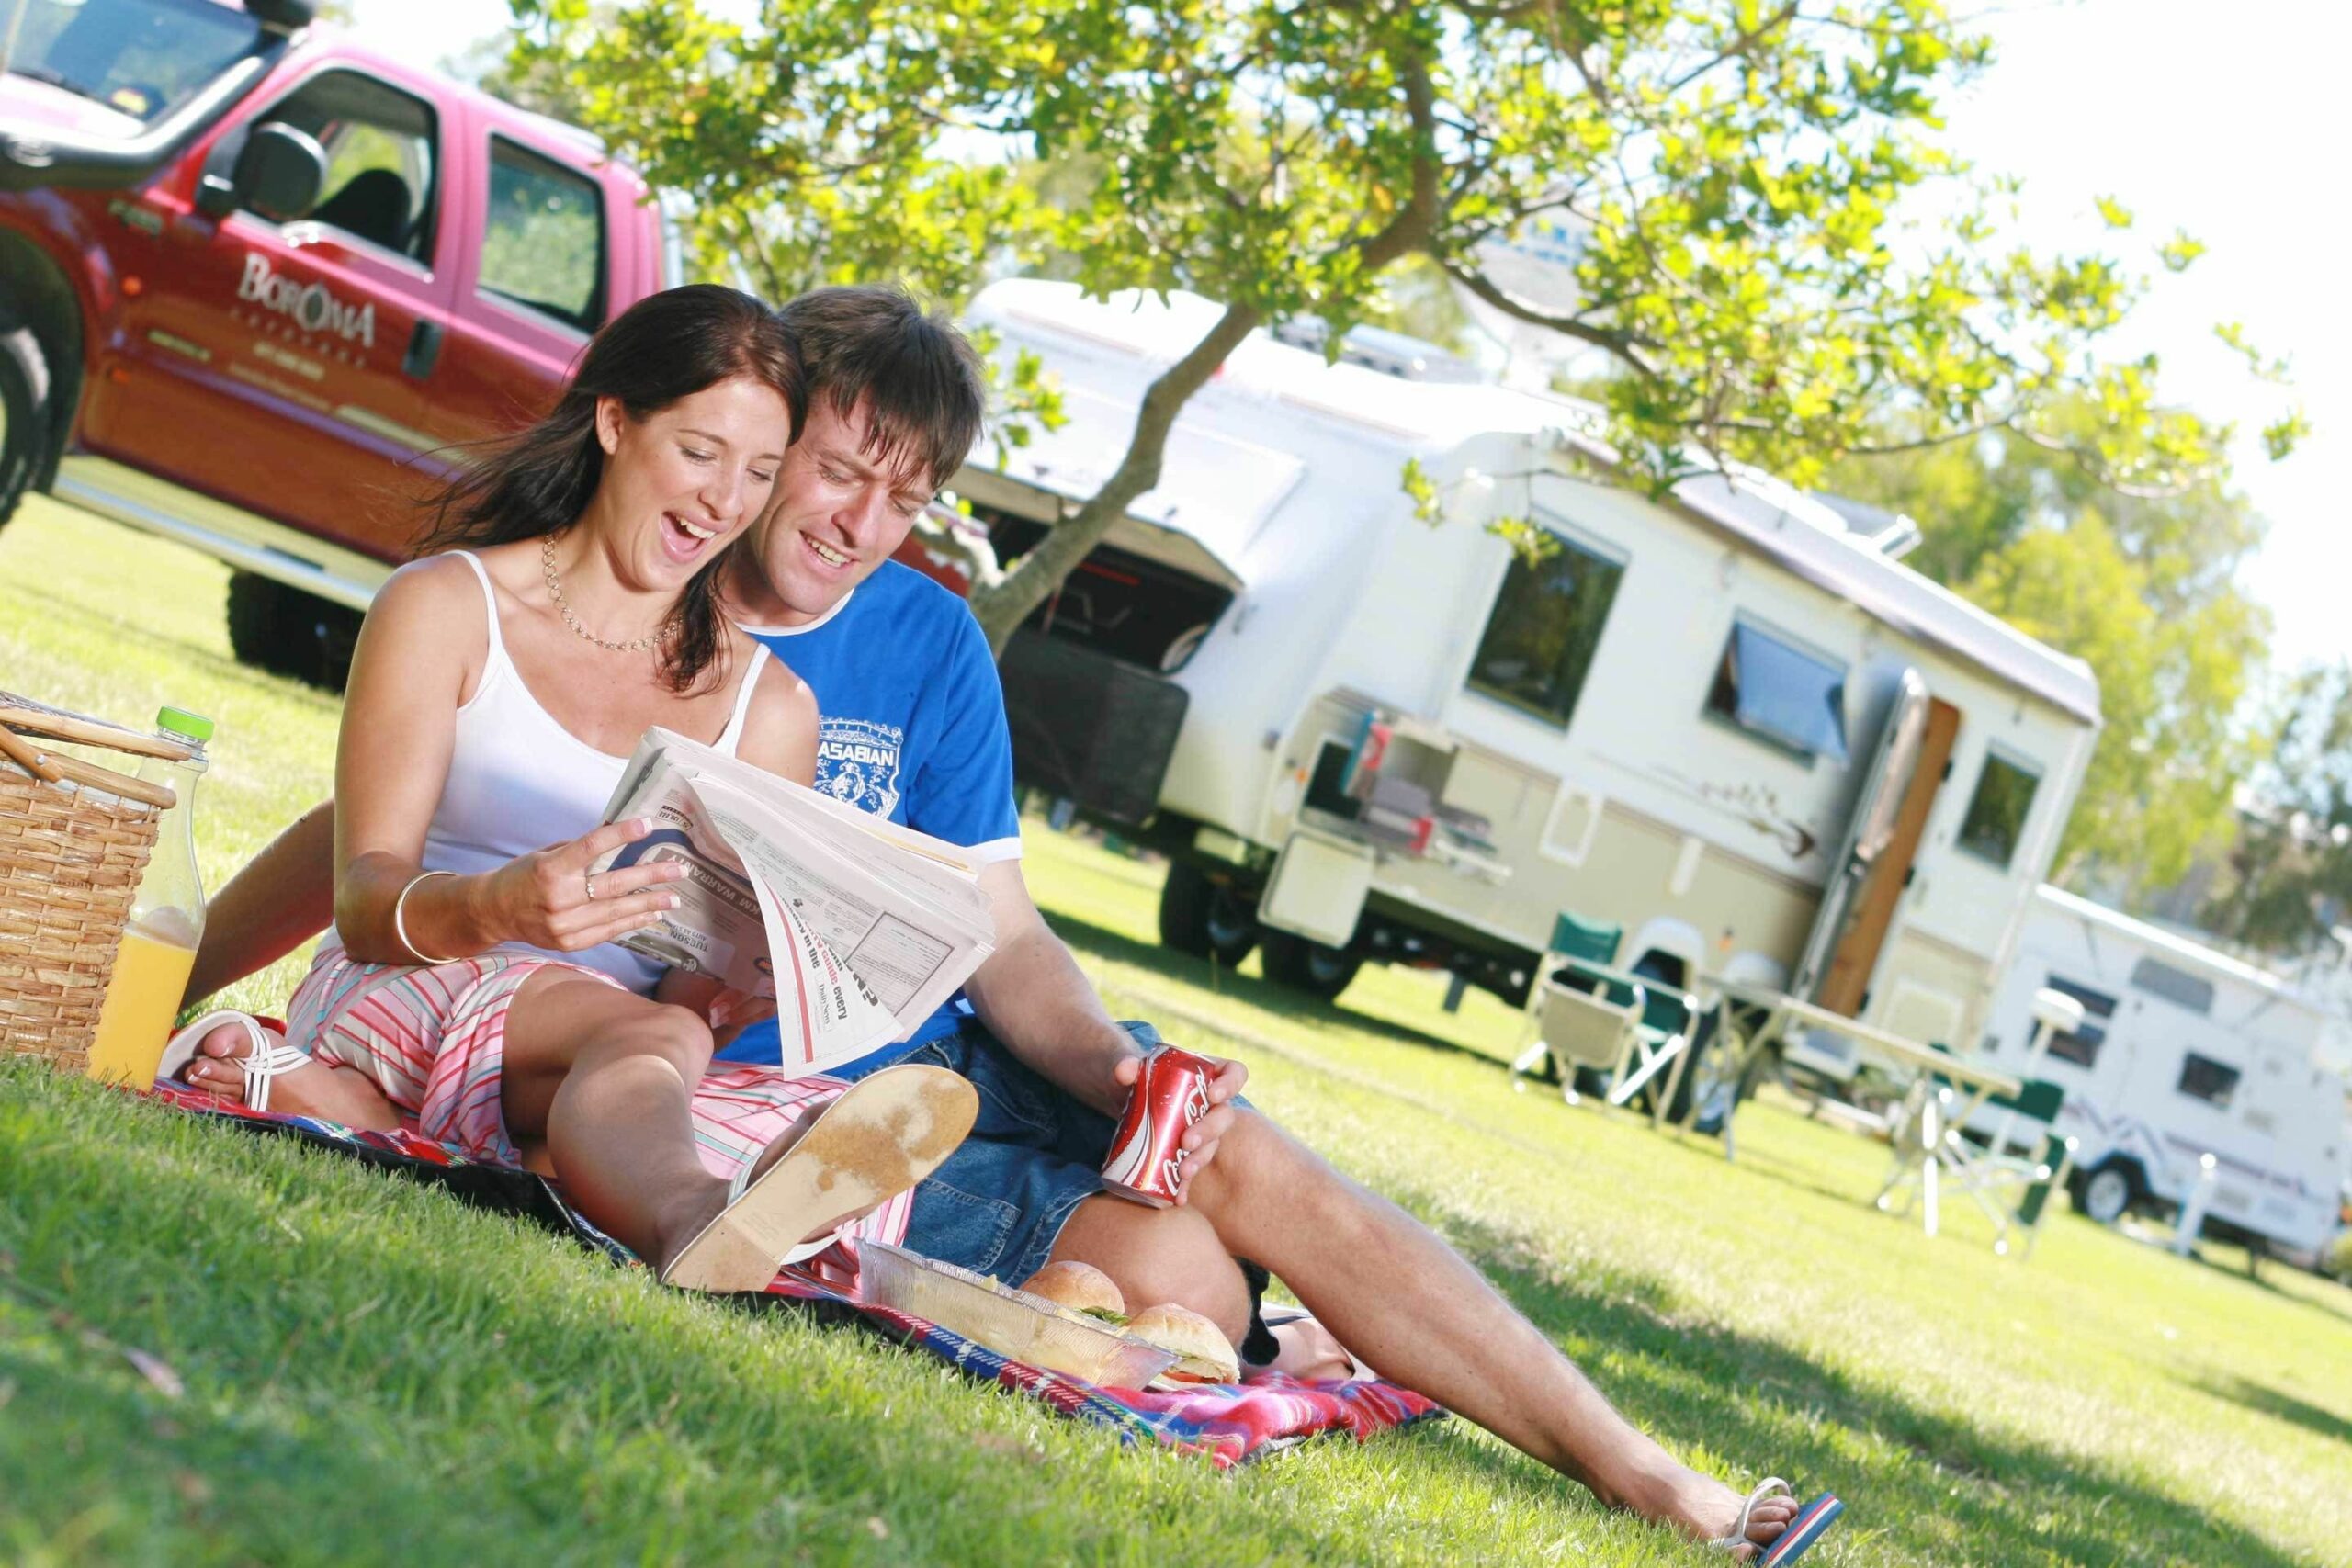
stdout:
[[[1428,1194],[1421,1194],[1428,1201]],[[1924,1410],[1893,1389],[1856,1382],[1771,1340],[1661,1309],[1665,1291],[1588,1291],[1522,1267],[1503,1232],[1454,1222],[1463,1251],[1555,1342],[1592,1345],[1602,1392],[1637,1425],[1703,1441],[1755,1474],[1790,1476],[1799,1495],[1837,1490],[1842,1530],[1870,1533],[1915,1561],[2234,1563],[2293,1568],[2300,1559],[2169,1497],[2098,1460],[1983,1432]],[[2298,1425],[2347,1425],[2272,1389],[2225,1396]],[[1865,1441],[1856,1441],[1863,1436]],[[1870,1439],[1903,1455],[1872,1455]],[[1524,1479],[1531,1462],[1461,1443],[1465,1462]],[[1856,1458],[1865,1453],[1867,1458]],[[1884,1453],[1884,1450],[1882,1450]]]

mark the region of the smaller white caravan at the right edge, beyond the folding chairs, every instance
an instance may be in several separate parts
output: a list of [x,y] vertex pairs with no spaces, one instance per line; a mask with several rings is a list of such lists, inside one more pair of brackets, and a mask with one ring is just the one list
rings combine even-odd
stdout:
[[[2084,1006],[2025,1065],[2032,994]],[[2077,1204],[2178,1211],[2213,1157],[2204,1229],[2310,1255],[2345,1180],[2347,1025],[2277,976],[2072,893],[2034,893],[1992,1006],[1987,1060],[2065,1088]],[[1980,1117],[1987,1131],[1994,1117]]]

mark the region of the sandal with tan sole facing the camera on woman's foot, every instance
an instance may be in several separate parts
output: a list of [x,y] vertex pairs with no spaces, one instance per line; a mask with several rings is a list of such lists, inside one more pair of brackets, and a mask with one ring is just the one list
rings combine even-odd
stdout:
[[757,1178],[736,1171],[727,1208],[661,1272],[661,1284],[729,1295],[764,1291],[788,1260],[814,1258],[840,1234],[814,1229],[882,1204],[938,1168],[981,1114],[981,1095],[946,1067],[884,1067],[851,1084]]

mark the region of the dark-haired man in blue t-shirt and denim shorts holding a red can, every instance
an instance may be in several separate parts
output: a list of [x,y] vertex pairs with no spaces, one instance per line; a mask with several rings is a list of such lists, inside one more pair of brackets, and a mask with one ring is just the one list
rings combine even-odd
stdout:
[[[1110,1020],[1021,879],[1004,698],[978,625],[950,592],[889,562],[978,435],[981,367],[948,322],[894,289],[816,289],[783,317],[800,341],[809,423],[739,552],[729,614],[816,691],[818,788],[971,846],[997,931],[964,1006],[847,1072],[913,1058],[981,1091],[974,1135],[915,1192],[908,1246],[1007,1279],[1047,1260],[1091,1262],[1129,1300],[1190,1305],[1235,1342],[1251,1321],[1235,1258],[1251,1258],[1383,1375],[1606,1505],[1703,1540],[1729,1533],[1740,1500],[1635,1432],[1475,1267],[1235,1105],[1240,1063],[1221,1067],[1214,1110],[1185,1138],[1183,1206],[1098,1190],[1110,1117],[1152,1037]],[[329,837],[332,809],[320,806],[221,891],[191,997],[327,922]],[[774,1060],[774,1030],[748,1030],[727,1056]],[[1792,1514],[1788,1500],[1757,1505],[1748,1540],[1771,1542]]]

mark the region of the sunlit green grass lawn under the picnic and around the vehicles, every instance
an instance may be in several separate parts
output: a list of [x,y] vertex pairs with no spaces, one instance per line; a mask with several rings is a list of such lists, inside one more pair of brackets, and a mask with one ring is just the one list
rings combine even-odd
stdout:
[[[219,719],[223,877],[327,790],[332,698],[238,668],[226,574],[33,501],[0,686]],[[1835,1488],[1806,1561],[2347,1563],[2352,1293],[2060,1213],[1872,1213],[1879,1145],[1759,1103],[1740,1159],[1510,1081],[1428,976],[1345,1006],[1152,943],[1160,872],[1030,823],[1115,1011],[1435,1225],[1646,1429]],[[275,1004],[299,961],[235,992]],[[146,1368],[146,1371],[141,1371]],[[929,1356],[666,1293],[348,1161],[0,1065],[0,1559],[19,1563],[1708,1563],[1463,1422],[1221,1476]]]

